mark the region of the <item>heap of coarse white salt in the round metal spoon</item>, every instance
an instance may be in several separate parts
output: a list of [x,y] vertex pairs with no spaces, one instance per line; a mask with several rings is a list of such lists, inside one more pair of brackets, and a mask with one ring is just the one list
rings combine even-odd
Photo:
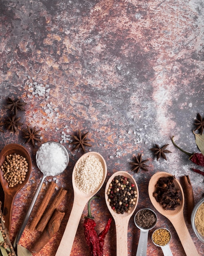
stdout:
[[36,162],[45,176],[56,176],[65,170],[68,159],[60,145],[50,142],[37,150]]

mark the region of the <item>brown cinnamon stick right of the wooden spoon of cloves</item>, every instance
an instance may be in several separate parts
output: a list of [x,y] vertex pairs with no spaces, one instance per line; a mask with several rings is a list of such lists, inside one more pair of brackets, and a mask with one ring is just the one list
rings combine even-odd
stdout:
[[184,186],[185,186],[185,197],[186,197],[186,202],[187,202],[187,207],[188,207],[188,222],[191,224],[191,213],[194,208],[194,197],[193,197],[193,189],[191,185],[191,181],[189,178],[189,175],[182,176]]

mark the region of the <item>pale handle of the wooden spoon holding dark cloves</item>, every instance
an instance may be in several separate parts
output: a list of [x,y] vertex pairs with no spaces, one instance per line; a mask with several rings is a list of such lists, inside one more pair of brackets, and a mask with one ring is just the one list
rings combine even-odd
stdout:
[[183,215],[180,214],[180,218],[171,219],[171,223],[173,224],[180,238],[180,241],[182,243],[186,256],[199,256],[197,249],[191,238],[191,235],[189,234],[189,231],[186,227],[186,223],[184,221]]

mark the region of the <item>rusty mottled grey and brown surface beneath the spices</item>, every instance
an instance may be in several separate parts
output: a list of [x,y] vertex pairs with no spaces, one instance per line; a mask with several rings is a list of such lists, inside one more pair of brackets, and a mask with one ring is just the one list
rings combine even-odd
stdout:
[[[23,126],[17,133],[0,133],[0,149],[9,143],[24,145],[31,154],[31,178],[15,198],[11,239],[15,238],[42,174],[35,163],[33,148],[24,144],[26,125],[40,130],[42,142],[63,144],[70,162],[57,177],[57,187],[68,190],[61,209],[66,211],[58,233],[36,256],[54,256],[63,235],[73,203],[72,169],[81,150],[70,140],[78,129],[89,132],[92,147],[107,163],[107,179],[112,173],[127,171],[136,180],[139,201],[136,209],[154,209],[148,197],[148,182],[157,171],[167,171],[180,179],[189,175],[195,203],[204,193],[204,177],[188,156],[171,143],[199,152],[195,144],[194,120],[204,117],[204,2],[202,0],[1,0],[0,1],[0,117],[5,119],[7,97],[21,98],[27,104],[18,112]],[[155,144],[169,144],[167,161],[156,161],[149,150]],[[149,159],[149,171],[132,172],[133,156]],[[200,168],[200,166],[199,166]],[[204,169],[201,167],[201,171]],[[34,216],[50,180],[43,184],[31,218]],[[92,202],[92,213],[100,232],[110,212],[104,193]],[[57,191],[56,191],[57,193]],[[54,196],[54,195],[53,195]],[[1,197],[3,195],[1,193]],[[79,223],[72,256],[89,255]],[[157,212],[157,211],[156,211]],[[204,244],[184,218],[200,255]],[[29,220],[30,223],[31,220]],[[184,250],[167,218],[158,213],[156,227],[172,233],[173,255]],[[155,227],[155,228],[156,228]],[[71,232],[71,231],[70,231]],[[147,255],[162,256],[151,242]],[[134,215],[128,228],[128,255],[136,255],[140,231]],[[26,227],[20,245],[30,249],[38,231]],[[105,239],[104,256],[116,255],[114,221]]]

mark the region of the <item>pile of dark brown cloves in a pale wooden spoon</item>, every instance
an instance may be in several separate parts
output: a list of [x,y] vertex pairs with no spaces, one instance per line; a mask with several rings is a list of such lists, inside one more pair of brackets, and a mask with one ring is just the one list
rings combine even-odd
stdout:
[[156,183],[156,191],[153,193],[154,198],[165,210],[175,210],[181,205],[182,194],[179,189],[175,188],[175,177],[160,177]]

